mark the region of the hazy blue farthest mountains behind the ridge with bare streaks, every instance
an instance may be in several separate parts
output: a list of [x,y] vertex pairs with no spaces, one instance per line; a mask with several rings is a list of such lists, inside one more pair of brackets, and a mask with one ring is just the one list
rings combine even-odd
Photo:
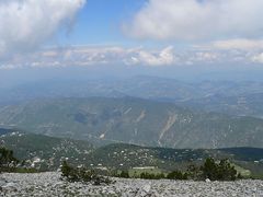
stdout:
[[45,80],[0,89],[0,106],[60,97],[140,97],[237,116],[263,117],[263,82],[183,82],[157,77],[107,80]]

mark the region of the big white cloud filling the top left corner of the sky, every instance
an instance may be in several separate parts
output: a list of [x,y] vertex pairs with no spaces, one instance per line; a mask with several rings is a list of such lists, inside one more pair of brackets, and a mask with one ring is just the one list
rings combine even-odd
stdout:
[[70,25],[85,0],[1,0],[0,57],[35,49]]

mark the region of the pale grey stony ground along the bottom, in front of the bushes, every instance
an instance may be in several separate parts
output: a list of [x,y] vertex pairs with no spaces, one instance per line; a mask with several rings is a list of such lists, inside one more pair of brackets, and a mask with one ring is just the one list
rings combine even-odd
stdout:
[[0,196],[243,196],[263,197],[262,181],[176,182],[116,179],[110,186],[60,181],[57,172],[0,174]]

